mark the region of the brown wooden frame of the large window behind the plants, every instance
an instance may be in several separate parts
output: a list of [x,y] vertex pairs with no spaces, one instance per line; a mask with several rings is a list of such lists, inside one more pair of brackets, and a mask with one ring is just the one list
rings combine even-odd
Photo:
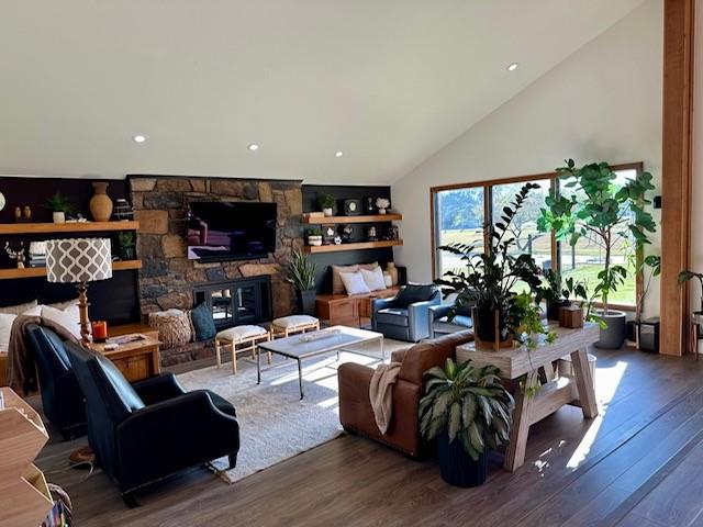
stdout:
[[[611,169],[613,171],[620,170],[636,170],[637,175],[640,175],[644,170],[644,162],[624,162],[620,165],[611,165]],[[466,183],[453,183],[453,184],[440,184],[436,187],[429,188],[429,229],[431,229],[431,238],[432,238],[432,277],[433,280],[439,278],[437,276],[438,272],[438,251],[437,251],[437,239],[438,239],[438,222],[437,222],[437,194],[439,192],[444,192],[447,190],[464,190],[464,189],[476,189],[478,187],[483,188],[483,247],[488,247],[489,239],[487,239],[487,222],[490,222],[490,218],[493,217],[493,195],[492,190],[493,187],[500,184],[510,184],[510,183],[525,183],[528,181],[550,181],[550,190],[559,191],[558,189],[558,173],[557,172],[546,172],[546,173],[534,173],[529,176],[517,176],[512,178],[501,178],[501,179],[492,179],[492,180],[483,180],[483,181],[475,181],[475,182],[466,182]],[[557,242],[554,231],[550,233],[551,238],[551,261],[556,262],[556,268],[561,272],[561,250],[560,243]],[[643,251],[641,249],[637,250],[635,255],[637,268],[641,266],[643,260]],[[634,312],[637,309],[637,299],[641,295],[641,284],[643,277],[641,271],[637,271],[635,273],[635,303],[634,304],[613,304],[610,306],[615,310]],[[594,303],[596,307],[602,307],[600,302]]]

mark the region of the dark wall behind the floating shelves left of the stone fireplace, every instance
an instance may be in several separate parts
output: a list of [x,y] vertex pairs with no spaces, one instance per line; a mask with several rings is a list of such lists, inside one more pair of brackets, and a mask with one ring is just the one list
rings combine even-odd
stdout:
[[[32,221],[36,223],[51,223],[52,213],[44,209],[44,202],[56,192],[65,194],[70,200],[76,212],[90,218],[88,202],[92,198],[93,181],[108,181],[100,179],[66,179],[66,178],[26,178],[2,177],[0,178],[0,192],[5,197],[5,208],[0,211],[0,223],[14,223],[14,208],[30,205],[32,208]],[[124,180],[109,180],[108,194],[114,201],[126,195]],[[52,238],[69,238],[80,236],[93,236],[93,234],[32,234],[32,235],[0,235],[0,268],[15,267],[8,258],[4,250],[5,242],[19,245]],[[107,234],[111,238],[116,233]],[[114,243],[114,242],[113,242]],[[71,284],[48,283],[45,278],[25,278],[18,280],[0,280],[0,306],[14,305],[37,299],[42,303],[54,303],[72,300],[77,296],[76,288]],[[107,319],[111,324],[123,324],[138,321],[140,306],[137,300],[137,272],[119,271],[111,280],[94,282],[89,285],[88,298],[90,301],[90,316],[92,319]]]

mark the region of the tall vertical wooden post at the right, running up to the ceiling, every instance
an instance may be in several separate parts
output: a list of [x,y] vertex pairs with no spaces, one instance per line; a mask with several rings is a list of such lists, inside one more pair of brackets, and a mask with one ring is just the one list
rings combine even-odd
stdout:
[[665,0],[661,157],[660,352],[688,349],[689,285],[678,276],[691,262],[695,0]]

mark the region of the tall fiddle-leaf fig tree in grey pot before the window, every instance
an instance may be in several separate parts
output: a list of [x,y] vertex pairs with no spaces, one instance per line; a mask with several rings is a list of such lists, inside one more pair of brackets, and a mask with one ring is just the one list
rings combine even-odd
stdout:
[[656,224],[644,208],[650,203],[646,192],[655,188],[651,175],[641,172],[618,186],[617,175],[607,162],[577,167],[573,159],[568,159],[566,164],[557,172],[562,189],[569,192],[567,195],[551,192],[546,198],[537,227],[540,232],[554,231],[558,240],[572,247],[587,238],[602,249],[603,267],[594,288],[595,298],[602,304],[599,316],[604,322],[598,346],[620,348],[625,341],[626,316],[611,307],[610,298],[631,271],[613,260],[613,249],[618,242],[632,250],[650,243],[646,233],[654,233]]

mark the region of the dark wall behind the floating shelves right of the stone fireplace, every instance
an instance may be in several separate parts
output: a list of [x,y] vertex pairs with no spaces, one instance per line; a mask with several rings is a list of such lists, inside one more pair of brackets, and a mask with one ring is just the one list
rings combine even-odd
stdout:
[[[393,200],[391,199],[390,187],[358,187],[358,186],[323,186],[323,184],[303,184],[303,212],[319,211],[317,198],[320,194],[332,194],[336,200],[364,200],[366,197],[373,198],[388,198],[391,200],[391,208]],[[402,212],[402,211],[399,211]],[[335,215],[343,215],[342,212],[335,208]],[[365,240],[365,227],[371,225],[367,223],[357,223],[354,225],[354,234],[352,239],[354,242]],[[388,223],[376,224],[379,228],[386,228]],[[312,225],[305,225],[305,231]],[[317,293],[325,294],[332,292],[332,270],[330,266],[337,265],[350,265],[350,264],[368,264],[371,261],[378,261],[384,265],[389,261],[393,261],[392,247],[384,247],[380,249],[361,249],[361,250],[345,250],[339,253],[325,253],[311,255],[310,260],[317,265],[316,289]]]

